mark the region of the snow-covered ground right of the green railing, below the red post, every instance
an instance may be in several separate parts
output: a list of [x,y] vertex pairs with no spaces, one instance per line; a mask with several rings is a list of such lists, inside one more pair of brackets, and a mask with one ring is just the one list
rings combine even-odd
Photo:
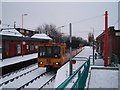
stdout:
[[92,88],[115,90],[120,88],[120,65],[118,67],[104,67],[103,59],[96,59],[91,66],[88,90]]

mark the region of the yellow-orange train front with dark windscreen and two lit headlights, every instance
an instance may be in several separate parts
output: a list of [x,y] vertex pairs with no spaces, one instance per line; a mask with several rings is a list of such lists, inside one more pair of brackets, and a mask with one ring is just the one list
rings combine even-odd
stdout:
[[58,69],[65,63],[65,44],[42,44],[39,46],[38,67]]

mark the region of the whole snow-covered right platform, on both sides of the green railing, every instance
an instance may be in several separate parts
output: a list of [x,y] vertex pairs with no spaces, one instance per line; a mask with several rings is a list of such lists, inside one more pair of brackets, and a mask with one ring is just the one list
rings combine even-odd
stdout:
[[[90,47],[84,47],[84,50],[80,52],[75,57],[86,57],[92,54],[93,49]],[[74,58],[73,58],[74,59]],[[76,64],[73,64],[73,72],[81,67],[85,63],[85,60],[76,61]],[[93,65],[93,59],[90,59],[90,68],[88,72],[88,77],[86,78],[85,88],[88,90],[92,89],[111,89],[116,90],[120,88],[120,66],[118,67],[105,67],[104,60],[102,58],[95,59]],[[62,79],[60,78],[62,77]],[[55,78],[54,88],[58,88],[61,84],[64,86],[65,82],[69,78],[69,62],[62,66],[58,71]],[[72,88],[72,85],[76,82],[78,76],[75,76],[67,85],[66,88]],[[67,81],[66,81],[67,80]]]

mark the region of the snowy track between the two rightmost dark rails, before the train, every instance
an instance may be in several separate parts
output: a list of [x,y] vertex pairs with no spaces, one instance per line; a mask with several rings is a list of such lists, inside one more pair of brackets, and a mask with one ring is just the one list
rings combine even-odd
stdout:
[[37,88],[38,90],[41,90],[42,88],[44,88],[44,86],[52,82],[55,79],[55,76],[55,73],[51,73],[50,71],[44,72],[27,82],[26,84],[22,85],[17,90],[21,90],[24,88]]

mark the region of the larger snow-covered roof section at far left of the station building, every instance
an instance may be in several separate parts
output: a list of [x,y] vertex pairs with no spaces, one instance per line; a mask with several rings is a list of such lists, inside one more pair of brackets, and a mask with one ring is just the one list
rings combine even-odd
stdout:
[[16,29],[3,29],[0,32],[0,35],[7,35],[7,36],[16,36],[16,37],[24,37],[21,33],[19,33]]

